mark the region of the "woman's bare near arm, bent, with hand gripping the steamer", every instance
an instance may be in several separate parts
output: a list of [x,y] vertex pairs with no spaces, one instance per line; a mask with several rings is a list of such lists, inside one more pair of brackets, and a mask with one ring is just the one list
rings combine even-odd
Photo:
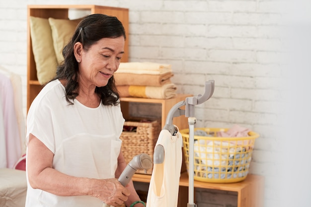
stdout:
[[130,194],[117,179],[91,179],[66,175],[52,168],[54,154],[34,135],[29,135],[27,172],[29,183],[57,196],[92,196],[112,206]]

